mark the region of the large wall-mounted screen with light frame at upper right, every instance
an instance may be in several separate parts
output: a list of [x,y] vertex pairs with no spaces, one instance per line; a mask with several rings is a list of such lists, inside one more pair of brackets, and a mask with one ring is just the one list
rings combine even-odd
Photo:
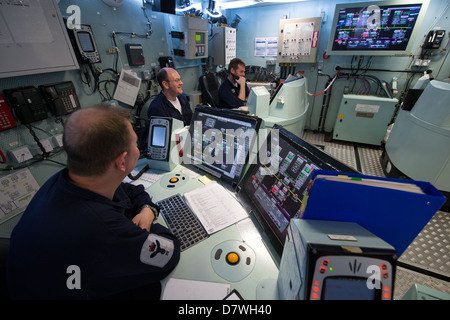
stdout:
[[406,56],[428,0],[337,4],[327,54]]

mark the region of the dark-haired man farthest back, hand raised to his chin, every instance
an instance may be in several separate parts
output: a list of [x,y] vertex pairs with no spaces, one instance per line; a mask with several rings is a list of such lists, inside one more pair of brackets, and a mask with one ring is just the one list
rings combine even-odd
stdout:
[[239,108],[245,106],[250,89],[245,82],[245,63],[234,58],[228,64],[228,77],[219,88],[220,108]]

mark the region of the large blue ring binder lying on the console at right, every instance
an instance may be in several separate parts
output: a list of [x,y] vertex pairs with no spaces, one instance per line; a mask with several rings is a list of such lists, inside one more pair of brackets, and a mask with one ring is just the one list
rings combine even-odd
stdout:
[[[422,192],[388,187],[332,181],[318,175],[347,176],[355,180],[408,183]],[[431,183],[315,170],[311,177],[302,219],[349,221],[358,223],[392,245],[400,256],[446,201]]]

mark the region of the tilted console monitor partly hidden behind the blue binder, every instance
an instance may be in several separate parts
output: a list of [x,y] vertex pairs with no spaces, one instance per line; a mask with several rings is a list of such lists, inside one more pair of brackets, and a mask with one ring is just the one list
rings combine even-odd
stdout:
[[237,191],[251,204],[253,214],[281,254],[289,222],[300,215],[312,172],[356,171],[279,125],[270,130],[265,144],[270,158],[262,161],[260,147],[258,161],[250,165]]

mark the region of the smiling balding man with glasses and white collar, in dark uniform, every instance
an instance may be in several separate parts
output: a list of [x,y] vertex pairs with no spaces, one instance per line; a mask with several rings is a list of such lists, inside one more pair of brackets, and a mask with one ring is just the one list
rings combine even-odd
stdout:
[[183,121],[185,126],[191,124],[192,109],[183,95],[181,77],[175,69],[162,68],[156,75],[161,92],[150,104],[147,116],[170,117]]

